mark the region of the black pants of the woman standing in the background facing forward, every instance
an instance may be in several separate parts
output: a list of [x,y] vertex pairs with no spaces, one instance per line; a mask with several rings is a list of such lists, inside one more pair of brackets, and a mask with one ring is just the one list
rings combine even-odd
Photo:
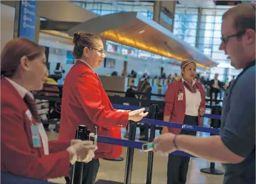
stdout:
[[[198,126],[198,117],[185,115],[184,124]],[[182,130],[180,134],[196,135],[196,131]],[[167,165],[167,184],[185,184],[187,181],[190,157],[169,154]]]

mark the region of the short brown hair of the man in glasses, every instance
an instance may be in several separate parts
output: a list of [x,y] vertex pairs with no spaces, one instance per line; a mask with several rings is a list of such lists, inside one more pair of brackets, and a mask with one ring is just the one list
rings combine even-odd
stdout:
[[222,19],[232,16],[234,18],[234,27],[237,31],[253,29],[255,31],[255,5],[243,3],[235,6],[223,14]]

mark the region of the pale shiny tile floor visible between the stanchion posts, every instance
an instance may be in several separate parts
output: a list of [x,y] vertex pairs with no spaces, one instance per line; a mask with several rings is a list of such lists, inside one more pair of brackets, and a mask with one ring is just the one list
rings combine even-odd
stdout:
[[[204,119],[204,126],[208,127],[208,119]],[[123,135],[125,129],[123,129]],[[156,136],[159,135],[159,131],[156,131]],[[57,139],[58,134],[50,129],[48,131],[49,139]],[[207,133],[198,133],[198,136],[207,137]],[[139,138],[139,128],[137,129],[136,138]],[[125,162],[126,162],[126,147],[123,148],[123,154],[121,157],[124,158],[122,162],[111,162],[100,160],[100,169],[97,175],[96,183],[101,183],[102,180],[115,182],[124,182],[125,173]],[[132,172],[132,183],[140,184],[145,183],[147,175],[147,158],[148,153],[143,153],[140,150],[135,150],[134,160],[133,160],[133,172]],[[152,174],[152,184],[167,183],[167,161],[168,157],[155,154],[153,159],[153,174]],[[187,184],[220,184],[222,183],[223,175],[210,175],[200,172],[200,169],[207,168],[210,166],[210,162],[203,159],[191,158],[190,166],[187,174]],[[216,169],[222,170],[222,166],[219,163],[215,165]],[[49,179],[51,182],[55,183],[65,183],[64,178],[54,178]],[[98,181],[98,182],[97,182]]]

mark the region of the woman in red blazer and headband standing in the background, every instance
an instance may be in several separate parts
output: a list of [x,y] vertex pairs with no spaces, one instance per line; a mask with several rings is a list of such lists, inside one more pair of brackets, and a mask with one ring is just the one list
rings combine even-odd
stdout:
[[[194,81],[196,64],[192,60],[182,62],[182,79],[170,83],[166,93],[164,121],[201,126],[200,117],[206,110],[204,90]],[[196,131],[163,128],[164,133],[196,135]],[[185,184],[190,157],[169,154],[167,167],[168,184]]]

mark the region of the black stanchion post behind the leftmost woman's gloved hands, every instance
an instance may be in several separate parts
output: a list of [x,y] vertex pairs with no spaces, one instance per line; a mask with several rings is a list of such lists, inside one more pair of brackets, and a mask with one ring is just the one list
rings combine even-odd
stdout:
[[[76,139],[88,140],[89,130],[87,126],[79,125],[76,131]],[[84,170],[84,162],[75,162],[73,167],[73,174],[70,180],[70,184],[82,184],[82,173]]]

